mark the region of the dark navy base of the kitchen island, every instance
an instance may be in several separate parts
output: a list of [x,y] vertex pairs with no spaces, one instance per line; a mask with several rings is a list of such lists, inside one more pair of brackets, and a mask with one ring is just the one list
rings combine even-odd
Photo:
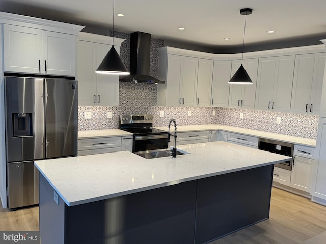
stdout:
[[40,173],[42,244],[209,243],[266,220],[273,164],[68,206]]

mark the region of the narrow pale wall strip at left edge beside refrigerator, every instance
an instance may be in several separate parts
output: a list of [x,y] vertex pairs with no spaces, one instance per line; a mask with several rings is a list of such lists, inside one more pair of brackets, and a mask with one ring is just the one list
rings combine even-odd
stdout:
[[[2,47],[2,26],[0,26],[0,47]],[[0,57],[3,57],[0,48]],[[2,207],[7,207],[7,183],[6,183],[6,150],[5,150],[5,89],[3,58],[0,58],[0,198]]]

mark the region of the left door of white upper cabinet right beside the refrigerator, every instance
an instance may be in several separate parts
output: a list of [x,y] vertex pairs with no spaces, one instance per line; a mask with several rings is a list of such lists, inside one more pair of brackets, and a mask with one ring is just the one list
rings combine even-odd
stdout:
[[78,105],[94,106],[96,104],[96,43],[78,41],[77,80]]

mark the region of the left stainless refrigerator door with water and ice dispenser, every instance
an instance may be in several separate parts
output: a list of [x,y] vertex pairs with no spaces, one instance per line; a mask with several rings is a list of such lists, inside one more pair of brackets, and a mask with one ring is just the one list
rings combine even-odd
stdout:
[[45,157],[44,79],[5,77],[7,162]]

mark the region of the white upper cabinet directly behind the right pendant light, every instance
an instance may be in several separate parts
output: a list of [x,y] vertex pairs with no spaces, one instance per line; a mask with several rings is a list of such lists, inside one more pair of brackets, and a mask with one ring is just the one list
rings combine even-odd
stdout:
[[[253,84],[231,84],[230,85],[230,96],[229,96],[229,107],[237,108],[254,108],[255,105],[255,94],[257,84],[257,71],[258,71],[258,58],[245,59],[243,60],[243,67],[247,71]],[[232,62],[232,74],[239,69],[241,60],[235,60]]]

